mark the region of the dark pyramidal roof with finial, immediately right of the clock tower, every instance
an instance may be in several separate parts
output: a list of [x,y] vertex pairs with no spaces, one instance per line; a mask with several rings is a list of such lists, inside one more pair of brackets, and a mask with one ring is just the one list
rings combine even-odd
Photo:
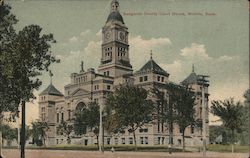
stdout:
[[169,76],[169,74],[163,70],[153,59],[152,57],[150,60],[138,71],[138,73],[151,71],[153,73]]

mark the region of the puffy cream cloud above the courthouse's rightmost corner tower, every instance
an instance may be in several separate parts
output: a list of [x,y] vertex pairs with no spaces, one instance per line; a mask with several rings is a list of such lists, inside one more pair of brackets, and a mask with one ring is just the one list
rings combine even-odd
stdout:
[[204,59],[211,59],[206,53],[205,45],[192,43],[190,47],[185,47],[181,49],[181,56],[184,57],[200,57]]

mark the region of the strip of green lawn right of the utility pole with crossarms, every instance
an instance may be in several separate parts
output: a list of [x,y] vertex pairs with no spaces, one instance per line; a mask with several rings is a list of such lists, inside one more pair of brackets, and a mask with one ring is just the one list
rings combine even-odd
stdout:
[[[216,152],[232,152],[232,145],[219,145],[219,144],[210,144],[208,146],[209,151],[216,151]],[[247,153],[248,146],[243,145],[234,145],[234,152],[238,153]]]

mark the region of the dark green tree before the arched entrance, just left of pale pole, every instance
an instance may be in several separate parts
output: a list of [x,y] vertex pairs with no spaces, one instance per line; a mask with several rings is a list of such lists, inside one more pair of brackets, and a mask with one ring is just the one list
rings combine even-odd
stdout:
[[97,139],[99,137],[99,105],[96,102],[90,102],[87,108],[76,112],[74,119],[74,131],[76,134],[86,134],[86,130],[89,128]]

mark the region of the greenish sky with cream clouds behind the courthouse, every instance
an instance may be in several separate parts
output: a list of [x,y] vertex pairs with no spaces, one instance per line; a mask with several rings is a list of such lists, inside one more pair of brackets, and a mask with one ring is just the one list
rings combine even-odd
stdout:
[[[64,93],[70,74],[97,68],[101,58],[101,28],[111,0],[6,0],[19,20],[16,29],[36,24],[57,43],[52,53],[61,60],[51,66],[53,84]],[[209,75],[210,101],[234,97],[243,101],[249,87],[249,4],[246,0],[119,0],[129,31],[134,71],[150,58],[179,83],[192,71]],[[49,74],[39,77],[50,83]],[[38,101],[28,103],[28,123],[38,118]],[[210,115],[210,121],[216,118]],[[210,122],[211,123],[211,122]]]

